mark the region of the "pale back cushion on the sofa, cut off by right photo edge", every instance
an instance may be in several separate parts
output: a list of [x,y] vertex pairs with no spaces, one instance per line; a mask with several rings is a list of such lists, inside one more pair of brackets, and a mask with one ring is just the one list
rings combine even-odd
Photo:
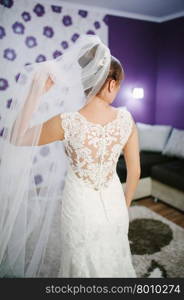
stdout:
[[184,130],[173,129],[162,154],[184,158]]

